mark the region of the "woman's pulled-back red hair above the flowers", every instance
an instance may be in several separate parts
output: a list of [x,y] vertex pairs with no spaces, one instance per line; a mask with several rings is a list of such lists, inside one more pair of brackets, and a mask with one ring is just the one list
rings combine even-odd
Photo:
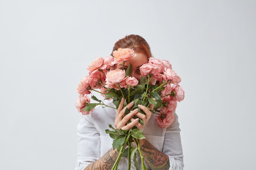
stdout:
[[118,40],[113,47],[113,51],[119,48],[133,49],[136,53],[144,53],[148,58],[152,57],[148,42],[146,42],[146,40],[139,35],[126,35],[124,38]]

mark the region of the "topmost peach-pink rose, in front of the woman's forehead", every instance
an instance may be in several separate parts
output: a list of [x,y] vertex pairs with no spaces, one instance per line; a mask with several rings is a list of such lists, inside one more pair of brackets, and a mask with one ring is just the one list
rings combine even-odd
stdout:
[[123,62],[126,60],[129,60],[132,57],[136,57],[136,54],[134,53],[133,49],[117,49],[113,51],[113,56],[115,57],[114,59],[117,60],[118,62]]

